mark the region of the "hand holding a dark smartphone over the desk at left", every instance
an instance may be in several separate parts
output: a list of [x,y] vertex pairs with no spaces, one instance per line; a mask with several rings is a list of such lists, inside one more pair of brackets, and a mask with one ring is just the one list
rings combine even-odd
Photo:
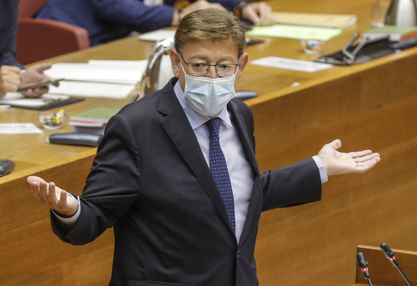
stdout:
[[[47,70],[51,66],[51,63],[41,63],[28,68],[26,72],[23,74],[21,87],[24,88],[25,86],[30,86],[51,80],[51,78],[48,75],[45,75],[43,73],[44,70]],[[49,88],[46,86],[43,88],[30,88],[28,90],[23,91],[22,93],[26,97],[40,97],[44,93],[47,93],[48,90]]]

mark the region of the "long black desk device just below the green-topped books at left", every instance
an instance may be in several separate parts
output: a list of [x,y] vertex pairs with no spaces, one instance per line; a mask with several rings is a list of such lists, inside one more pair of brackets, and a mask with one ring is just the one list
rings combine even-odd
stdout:
[[64,145],[80,145],[97,147],[103,135],[91,133],[54,133],[49,135],[49,142]]

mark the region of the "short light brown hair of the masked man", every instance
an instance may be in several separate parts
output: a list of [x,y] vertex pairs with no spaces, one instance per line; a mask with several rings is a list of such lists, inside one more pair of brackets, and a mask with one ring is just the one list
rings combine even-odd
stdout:
[[178,23],[175,33],[175,49],[181,48],[187,41],[225,40],[236,45],[238,57],[246,46],[245,30],[239,18],[229,11],[207,8],[191,12]]

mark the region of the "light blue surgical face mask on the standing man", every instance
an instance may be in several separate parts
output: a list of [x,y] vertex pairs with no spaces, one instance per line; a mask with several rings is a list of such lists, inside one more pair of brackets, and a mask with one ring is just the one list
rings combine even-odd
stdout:
[[185,74],[184,100],[200,114],[215,115],[235,97],[234,75],[223,78],[205,78],[187,75],[180,58],[180,65]]

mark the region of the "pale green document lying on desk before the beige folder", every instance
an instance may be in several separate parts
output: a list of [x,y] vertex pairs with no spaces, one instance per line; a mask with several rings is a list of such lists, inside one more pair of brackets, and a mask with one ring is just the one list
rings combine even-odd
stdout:
[[342,29],[333,28],[318,28],[296,25],[271,25],[253,27],[252,30],[246,32],[246,36],[327,41],[342,32]]

